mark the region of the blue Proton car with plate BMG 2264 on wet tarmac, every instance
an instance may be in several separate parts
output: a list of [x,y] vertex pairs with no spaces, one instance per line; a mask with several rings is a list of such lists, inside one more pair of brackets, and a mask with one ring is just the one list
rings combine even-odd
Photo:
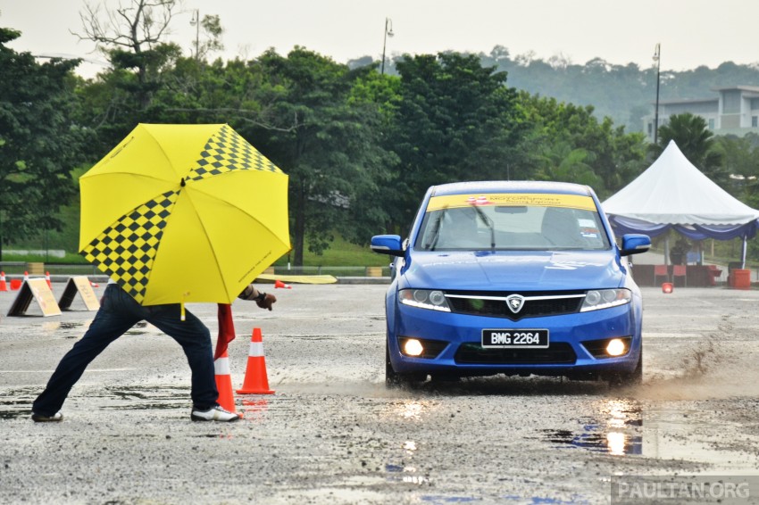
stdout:
[[627,261],[651,240],[615,242],[588,186],[432,186],[411,233],[371,238],[395,256],[386,296],[389,386],[530,375],[641,380],[642,300]]

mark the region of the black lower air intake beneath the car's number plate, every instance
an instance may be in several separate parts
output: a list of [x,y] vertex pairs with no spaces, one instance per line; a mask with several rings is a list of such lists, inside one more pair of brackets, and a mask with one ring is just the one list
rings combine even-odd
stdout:
[[480,344],[462,344],[455,355],[456,363],[470,365],[571,365],[577,355],[565,342],[545,349],[486,349]]

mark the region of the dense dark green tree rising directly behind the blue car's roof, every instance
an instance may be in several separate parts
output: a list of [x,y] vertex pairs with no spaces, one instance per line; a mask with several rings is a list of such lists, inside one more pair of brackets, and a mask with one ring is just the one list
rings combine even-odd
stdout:
[[400,99],[388,145],[400,170],[389,206],[405,224],[429,186],[505,178],[507,165],[520,163],[521,113],[505,72],[482,67],[475,55],[406,56],[396,68]]

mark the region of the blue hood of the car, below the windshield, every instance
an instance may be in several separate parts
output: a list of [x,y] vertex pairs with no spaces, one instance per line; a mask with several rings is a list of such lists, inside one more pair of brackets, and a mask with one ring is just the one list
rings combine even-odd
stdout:
[[474,290],[603,289],[624,284],[613,251],[413,252],[399,287]]

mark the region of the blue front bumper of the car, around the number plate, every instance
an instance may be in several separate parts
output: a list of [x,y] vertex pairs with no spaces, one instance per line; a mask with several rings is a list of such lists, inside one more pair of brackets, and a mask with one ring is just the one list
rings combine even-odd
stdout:
[[[393,369],[399,373],[445,373],[461,376],[545,375],[603,376],[631,372],[640,357],[640,322],[632,304],[604,310],[525,318],[518,321],[438,312],[398,305],[388,322],[388,351]],[[508,330],[547,328],[549,346],[542,349],[481,346],[483,328]],[[594,356],[599,340],[626,338],[629,350],[620,357]],[[399,339],[435,341],[434,357],[413,358],[401,352]]]

